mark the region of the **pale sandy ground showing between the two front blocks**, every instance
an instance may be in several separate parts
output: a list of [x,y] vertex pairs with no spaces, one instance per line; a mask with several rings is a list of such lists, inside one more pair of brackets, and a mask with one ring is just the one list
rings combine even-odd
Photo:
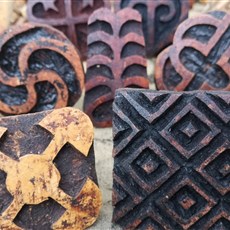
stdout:
[[[74,106],[82,110],[84,94]],[[112,226],[112,172],[113,172],[113,142],[112,128],[94,129],[94,152],[96,158],[96,170],[99,187],[102,192],[103,205],[100,216],[90,230],[118,230]]]

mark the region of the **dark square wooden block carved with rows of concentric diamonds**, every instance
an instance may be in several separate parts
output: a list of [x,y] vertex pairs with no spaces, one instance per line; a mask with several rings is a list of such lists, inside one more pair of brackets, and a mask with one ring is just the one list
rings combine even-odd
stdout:
[[230,93],[122,89],[114,101],[113,222],[229,229]]

